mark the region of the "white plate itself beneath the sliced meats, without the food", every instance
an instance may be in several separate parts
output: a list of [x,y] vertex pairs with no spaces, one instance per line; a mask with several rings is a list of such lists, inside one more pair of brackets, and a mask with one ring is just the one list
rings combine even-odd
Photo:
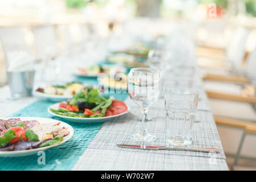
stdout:
[[[14,117],[12,117],[14,118]],[[64,126],[67,127],[67,131],[70,131],[70,134],[63,137],[63,141],[60,143],[53,144],[51,146],[47,147],[40,147],[40,148],[33,148],[31,150],[20,150],[20,151],[0,151],[0,157],[20,157],[20,156],[27,156],[27,155],[32,155],[32,154],[37,154],[38,151],[43,151],[47,150],[48,148],[56,147],[59,144],[67,142],[69,139],[71,139],[74,135],[74,129],[72,126],[68,125],[65,122],[58,121],[55,119],[50,119],[50,118],[38,118],[38,117],[16,117],[20,118],[22,121],[30,121],[30,120],[36,120],[40,124],[42,123],[50,123],[50,122],[60,122],[59,126]],[[10,119],[10,118],[0,118],[0,119]]]

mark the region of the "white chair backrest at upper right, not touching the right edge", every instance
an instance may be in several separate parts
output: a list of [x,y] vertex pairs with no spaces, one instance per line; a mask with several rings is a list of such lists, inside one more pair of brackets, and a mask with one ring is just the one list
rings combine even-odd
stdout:
[[245,44],[250,33],[245,27],[237,27],[227,47],[227,60],[238,71],[242,71],[242,62],[245,56]]

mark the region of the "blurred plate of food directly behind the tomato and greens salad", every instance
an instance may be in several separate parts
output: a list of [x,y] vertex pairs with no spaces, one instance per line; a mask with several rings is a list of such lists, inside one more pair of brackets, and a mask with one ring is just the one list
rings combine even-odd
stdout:
[[76,93],[80,91],[89,92],[91,89],[95,88],[96,86],[92,86],[90,84],[82,84],[80,82],[68,82],[65,84],[45,84],[44,86],[38,87],[34,91],[34,95],[58,102],[66,101],[68,98],[72,98]]

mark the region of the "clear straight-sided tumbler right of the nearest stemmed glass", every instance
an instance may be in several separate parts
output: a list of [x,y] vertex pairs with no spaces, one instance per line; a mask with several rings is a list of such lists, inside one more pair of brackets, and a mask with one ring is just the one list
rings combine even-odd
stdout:
[[192,143],[198,96],[195,89],[164,89],[166,139],[170,144],[182,146]]

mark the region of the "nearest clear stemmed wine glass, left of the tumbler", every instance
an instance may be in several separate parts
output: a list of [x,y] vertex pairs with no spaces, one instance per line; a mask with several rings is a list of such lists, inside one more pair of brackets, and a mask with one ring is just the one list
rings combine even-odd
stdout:
[[147,113],[149,107],[161,96],[162,73],[155,68],[132,68],[127,84],[129,97],[140,106],[142,113],[141,131],[129,137],[138,142],[153,142],[156,137],[149,134],[146,128]]

